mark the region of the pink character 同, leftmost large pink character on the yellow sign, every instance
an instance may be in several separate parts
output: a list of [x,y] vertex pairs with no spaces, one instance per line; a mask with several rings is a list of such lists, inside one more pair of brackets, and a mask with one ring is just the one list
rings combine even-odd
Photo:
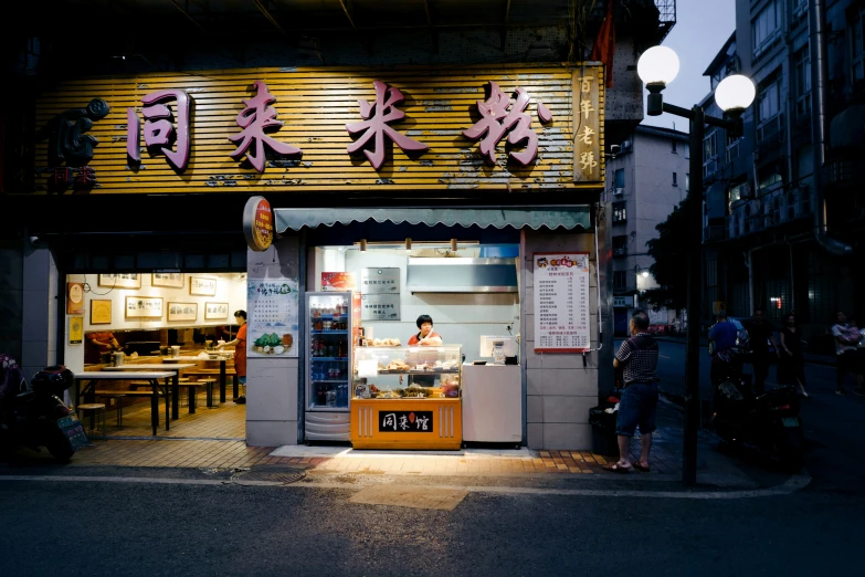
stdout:
[[[171,124],[171,108],[163,101],[175,101],[177,103],[177,130]],[[168,162],[176,170],[183,171],[189,164],[189,117],[190,117],[190,96],[183,91],[166,90],[151,92],[141,98],[141,115],[145,117],[144,137],[145,146],[161,147]],[[134,162],[141,161],[141,141],[138,115],[135,108],[126,109],[127,135],[126,153]],[[176,137],[176,150],[171,149],[171,141]]]

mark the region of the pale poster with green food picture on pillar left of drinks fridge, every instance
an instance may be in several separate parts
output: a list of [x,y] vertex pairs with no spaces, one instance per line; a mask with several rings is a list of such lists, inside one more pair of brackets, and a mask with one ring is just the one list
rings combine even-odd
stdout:
[[250,357],[296,357],[297,279],[249,279],[246,346]]

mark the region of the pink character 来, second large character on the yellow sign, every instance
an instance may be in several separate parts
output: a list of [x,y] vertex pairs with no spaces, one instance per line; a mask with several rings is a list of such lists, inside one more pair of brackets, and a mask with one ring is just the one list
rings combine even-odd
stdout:
[[[232,143],[242,141],[238,145],[238,149],[230,153],[229,156],[236,160],[246,155],[252,167],[259,172],[264,172],[264,145],[281,155],[299,155],[303,154],[303,150],[265,134],[265,130],[278,129],[282,126],[282,123],[276,119],[276,108],[268,106],[268,104],[276,102],[276,97],[267,91],[267,85],[264,82],[255,81],[254,85],[255,97],[243,98],[243,104],[246,107],[238,114],[238,126],[243,130],[239,135],[229,136],[229,140]],[[253,146],[255,154],[250,151],[250,147]]]

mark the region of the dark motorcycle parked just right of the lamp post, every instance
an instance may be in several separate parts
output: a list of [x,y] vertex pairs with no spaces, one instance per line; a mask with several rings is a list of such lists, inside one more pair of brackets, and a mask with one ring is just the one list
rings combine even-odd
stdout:
[[714,373],[711,423],[718,436],[735,447],[756,448],[784,470],[799,472],[805,440],[795,387],[756,395],[737,366],[715,367]]

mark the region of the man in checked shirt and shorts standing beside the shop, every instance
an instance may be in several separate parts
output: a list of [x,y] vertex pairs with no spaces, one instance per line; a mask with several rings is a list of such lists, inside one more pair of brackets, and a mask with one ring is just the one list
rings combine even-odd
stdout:
[[[634,311],[629,326],[631,338],[622,343],[613,367],[622,370],[624,389],[619,400],[615,434],[619,437],[619,461],[604,466],[613,473],[630,469],[650,471],[648,452],[657,413],[657,342],[648,334],[648,315]],[[631,438],[640,427],[640,459],[631,463]]]

